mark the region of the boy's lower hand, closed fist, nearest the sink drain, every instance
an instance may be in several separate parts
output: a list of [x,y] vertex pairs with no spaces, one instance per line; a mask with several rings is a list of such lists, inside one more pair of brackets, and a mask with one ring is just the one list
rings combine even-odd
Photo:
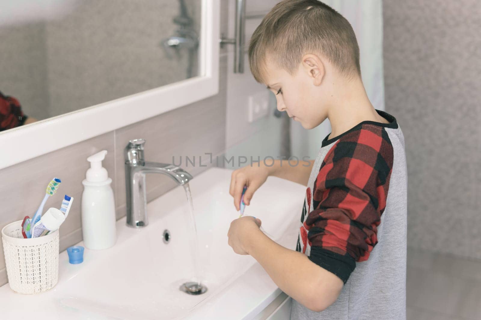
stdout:
[[234,249],[235,253],[249,254],[245,249],[245,241],[249,234],[255,231],[255,229],[259,229],[261,223],[261,220],[250,215],[235,219],[230,223],[230,228],[227,232],[228,244]]

